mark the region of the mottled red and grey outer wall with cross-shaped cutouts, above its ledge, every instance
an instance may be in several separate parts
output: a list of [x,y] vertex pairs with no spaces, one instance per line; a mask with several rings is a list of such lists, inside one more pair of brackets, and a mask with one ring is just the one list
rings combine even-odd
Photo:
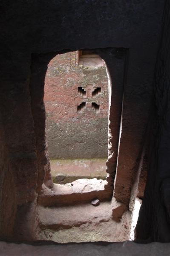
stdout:
[[[78,55],[78,51],[56,55],[46,73],[46,135],[53,159],[108,155],[106,67],[80,65]],[[101,92],[92,95],[97,88]],[[78,111],[83,102],[86,105]],[[92,108],[92,103],[99,109]]]

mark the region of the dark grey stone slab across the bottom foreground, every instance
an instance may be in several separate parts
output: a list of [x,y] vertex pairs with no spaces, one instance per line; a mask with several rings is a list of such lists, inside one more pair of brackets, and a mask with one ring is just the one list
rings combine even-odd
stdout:
[[14,244],[1,241],[0,256],[170,256],[170,244],[137,244],[133,241],[83,244],[38,241],[32,244]]

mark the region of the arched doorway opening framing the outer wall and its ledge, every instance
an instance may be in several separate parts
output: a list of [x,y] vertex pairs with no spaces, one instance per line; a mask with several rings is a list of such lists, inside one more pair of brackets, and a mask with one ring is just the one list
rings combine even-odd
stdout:
[[56,55],[45,79],[46,136],[53,182],[105,180],[108,78],[95,50]]

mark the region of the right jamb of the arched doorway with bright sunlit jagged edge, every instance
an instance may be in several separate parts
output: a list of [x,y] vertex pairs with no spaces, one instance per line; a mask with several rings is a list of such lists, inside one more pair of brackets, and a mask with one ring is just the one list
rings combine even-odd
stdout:
[[109,152],[107,160],[107,181],[113,187],[115,179],[119,133],[121,125],[121,111],[124,93],[124,67],[127,49],[108,48],[98,49],[97,53],[107,65],[109,79]]

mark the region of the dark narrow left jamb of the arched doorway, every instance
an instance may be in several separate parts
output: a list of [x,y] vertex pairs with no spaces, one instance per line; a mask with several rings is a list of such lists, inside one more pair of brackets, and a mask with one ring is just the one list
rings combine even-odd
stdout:
[[47,143],[45,136],[45,106],[43,102],[44,96],[44,80],[49,60],[53,54],[32,55],[31,79],[30,79],[30,94],[31,94],[31,109],[34,119],[34,128],[36,136],[36,152],[37,152],[37,192],[41,190],[44,182],[48,187],[52,187],[52,177],[50,172],[50,163],[47,151]]

